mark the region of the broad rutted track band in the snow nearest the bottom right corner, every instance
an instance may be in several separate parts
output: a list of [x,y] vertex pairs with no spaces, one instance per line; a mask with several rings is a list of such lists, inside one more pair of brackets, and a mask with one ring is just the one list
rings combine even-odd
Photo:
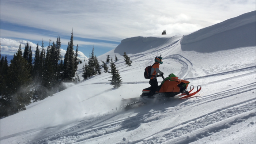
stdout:
[[[230,128],[242,121],[255,117],[255,100],[246,105],[234,106],[223,111],[216,111],[212,114],[203,115],[196,120],[191,120],[181,126],[174,126],[169,130],[162,130],[143,140],[148,143],[191,143],[196,137],[207,137],[219,132],[222,129]],[[194,121],[194,122],[193,122]],[[176,139],[176,137],[182,137]],[[142,142],[141,142],[142,143]]]

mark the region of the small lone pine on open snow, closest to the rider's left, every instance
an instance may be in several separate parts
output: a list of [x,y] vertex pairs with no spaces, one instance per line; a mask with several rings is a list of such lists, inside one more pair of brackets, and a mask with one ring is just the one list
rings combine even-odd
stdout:
[[113,62],[113,59],[111,58],[111,62],[110,62],[110,67],[111,67],[111,71],[109,72],[112,76],[110,76],[110,78],[112,78],[110,81],[110,85],[114,86],[114,88],[118,88],[120,87],[122,84],[122,80],[120,77],[120,74],[118,73],[118,70],[116,68],[116,65]]

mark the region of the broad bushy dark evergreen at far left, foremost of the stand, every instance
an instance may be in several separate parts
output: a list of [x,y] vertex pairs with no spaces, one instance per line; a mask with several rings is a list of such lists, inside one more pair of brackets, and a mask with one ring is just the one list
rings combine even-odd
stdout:
[[7,87],[4,95],[9,97],[7,98],[10,100],[8,105],[11,104],[11,107],[7,108],[8,114],[25,110],[25,106],[30,103],[32,92],[29,91],[30,87],[28,86],[31,79],[28,62],[17,52],[4,77],[4,84]]

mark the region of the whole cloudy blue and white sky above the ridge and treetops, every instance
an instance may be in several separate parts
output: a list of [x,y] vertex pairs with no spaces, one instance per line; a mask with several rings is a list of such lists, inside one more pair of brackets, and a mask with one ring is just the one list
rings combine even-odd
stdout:
[[[61,37],[61,53],[74,32],[79,57],[96,56],[136,36],[186,35],[254,11],[255,0],[1,0],[1,55],[14,54],[29,42],[49,45]],[[75,47],[74,47],[75,48]]]

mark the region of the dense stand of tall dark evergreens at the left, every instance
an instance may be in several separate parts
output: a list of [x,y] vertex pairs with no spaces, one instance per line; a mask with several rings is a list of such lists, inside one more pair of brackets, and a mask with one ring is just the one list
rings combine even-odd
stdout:
[[6,56],[1,57],[0,50],[0,117],[25,110],[32,101],[64,90],[62,82],[80,81],[75,74],[82,61],[77,58],[78,45],[74,50],[73,37],[72,30],[64,60],[60,52],[60,36],[56,42],[50,39],[47,47],[42,41],[41,49],[37,43],[34,58],[29,43],[26,43],[24,52],[20,44],[10,65]]

